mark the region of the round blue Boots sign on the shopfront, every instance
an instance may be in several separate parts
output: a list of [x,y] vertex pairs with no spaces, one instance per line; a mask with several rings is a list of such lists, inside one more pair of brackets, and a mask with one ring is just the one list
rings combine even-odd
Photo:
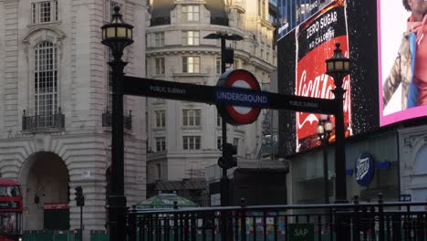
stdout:
[[358,160],[356,160],[354,170],[356,182],[363,186],[369,185],[375,171],[372,156],[366,152],[360,153]]

